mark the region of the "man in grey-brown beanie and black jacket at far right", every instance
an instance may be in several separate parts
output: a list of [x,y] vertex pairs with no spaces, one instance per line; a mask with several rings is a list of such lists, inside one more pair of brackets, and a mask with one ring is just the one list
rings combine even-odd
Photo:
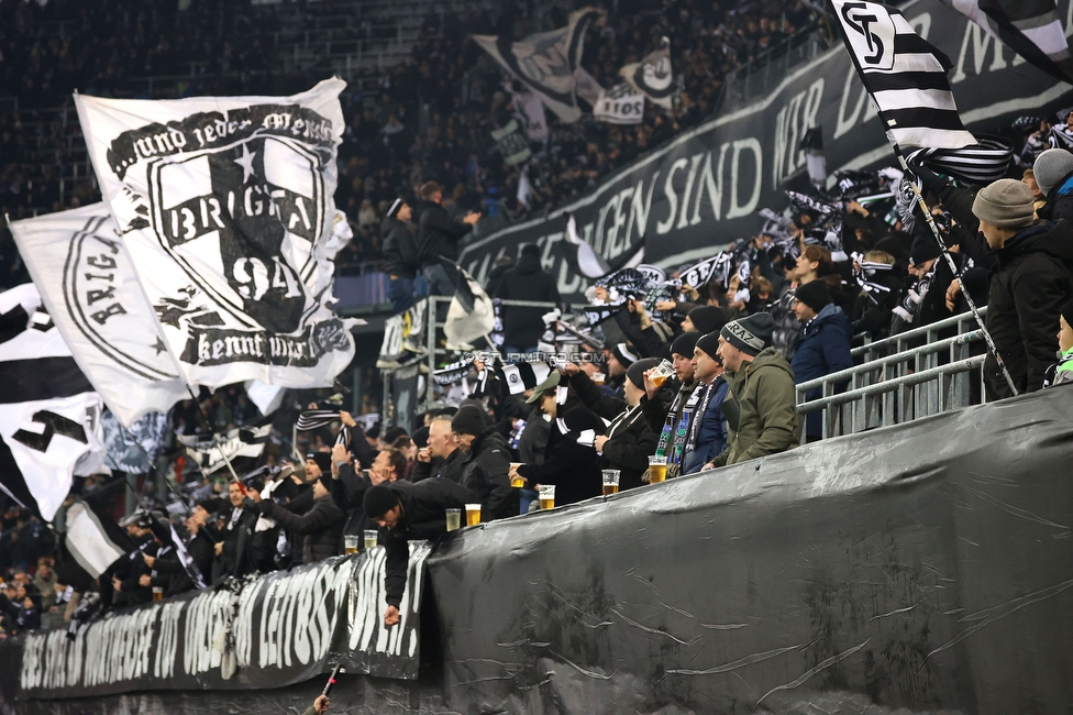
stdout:
[[[999,179],[976,194],[973,213],[995,255],[987,292],[987,330],[1018,393],[1043,386],[1054,362],[1062,306],[1073,298],[1073,228],[1036,220],[1032,191]],[[984,363],[988,397],[1009,397],[993,355]]]

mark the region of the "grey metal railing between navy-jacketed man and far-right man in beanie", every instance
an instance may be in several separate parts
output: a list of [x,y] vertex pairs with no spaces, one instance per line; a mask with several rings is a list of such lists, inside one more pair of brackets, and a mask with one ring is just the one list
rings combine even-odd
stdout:
[[797,385],[797,411],[822,410],[828,439],[978,404],[984,353],[973,316],[954,316],[852,350],[858,365]]

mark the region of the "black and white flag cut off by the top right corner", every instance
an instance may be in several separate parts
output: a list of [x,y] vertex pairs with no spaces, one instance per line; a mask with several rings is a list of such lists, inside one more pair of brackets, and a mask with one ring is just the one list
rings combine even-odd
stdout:
[[942,0],[1054,79],[1073,84],[1073,58],[1054,0]]

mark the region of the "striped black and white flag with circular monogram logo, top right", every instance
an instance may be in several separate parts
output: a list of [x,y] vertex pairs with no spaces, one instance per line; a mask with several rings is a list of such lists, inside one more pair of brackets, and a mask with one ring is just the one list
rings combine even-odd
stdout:
[[863,0],[831,2],[845,47],[893,144],[960,148],[976,143],[950,91],[950,58],[894,8]]

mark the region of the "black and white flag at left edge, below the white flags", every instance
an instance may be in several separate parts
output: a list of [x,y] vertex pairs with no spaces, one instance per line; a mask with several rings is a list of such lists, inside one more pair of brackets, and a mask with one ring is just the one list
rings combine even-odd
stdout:
[[101,465],[102,409],[33,284],[0,293],[0,488],[52,521]]

